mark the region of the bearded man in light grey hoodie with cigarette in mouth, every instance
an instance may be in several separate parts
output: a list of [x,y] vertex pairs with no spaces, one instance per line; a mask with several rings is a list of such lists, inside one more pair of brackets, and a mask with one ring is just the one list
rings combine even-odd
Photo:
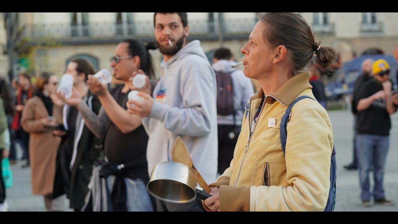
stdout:
[[[193,164],[207,183],[217,176],[216,80],[199,40],[187,44],[186,12],[155,12],[155,39],[160,53],[161,79],[150,96],[138,89],[142,101],[129,100],[129,112],[142,117],[148,133],[148,172],[164,161],[173,161],[172,146],[179,136]],[[134,89],[134,87],[132,88]],[[132,105],[133,104],[133,105]],[[204,211],[200,199],[186,204],[157,201],[158,211]]]

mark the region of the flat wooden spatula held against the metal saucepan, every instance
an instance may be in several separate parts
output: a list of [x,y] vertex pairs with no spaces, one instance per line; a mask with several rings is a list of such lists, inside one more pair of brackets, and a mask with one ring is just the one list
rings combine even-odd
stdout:
[[193,165],[193,161],[191,158],[191,155],[189,155],[187,146],[185,145],[184,141],[178,136],[176,141],[174,141],[174,145],[172,148],[172,158],[174,162],[178,163],[183,163],[189,167],[191,167],[193,170],[196,171],[197,173],[197,181],[199,185],[207,191],[207,193],[211,192],[211,189],[209,185],[206,183],[205,179],[203,179],[202,175],[200,175],[199,171],[195,168]]

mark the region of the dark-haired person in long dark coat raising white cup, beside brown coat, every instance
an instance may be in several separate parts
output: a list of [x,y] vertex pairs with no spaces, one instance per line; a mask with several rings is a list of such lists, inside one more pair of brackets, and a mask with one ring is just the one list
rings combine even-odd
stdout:
[[[55,117],[62,117],[62,125],[65,130],[55,130],[53,133],[62,137],[59,147],[58,159],[62,172],[56,174],[67,175],[63,179],[69,179],[65,185],[69,188],[68,194],[70,208],[80,211],[84,206],[84,198],[88,193],[88,183],[92,175],[95,160],[100,158],[101,138],[96,138],[94,133],[84,125],[84,119],[80,113],[80,108],[88,108],[90,112],[98,114],[101,102],[98,96],[92,94],[86,81],[89,74],[94,74],[93,65],[82,58],[72,59],[67,66],[64,77],[70,83],[73,80],[73,89],[69,97],[66,92],[57,92],[58,98],[66,104],[57,111]],[[62,77],[62,78],[64,78]],[[61,83],[62,85],[62,83]],[[68,86],[70,87],[70,86]],[[65,156],[70,153],[70,156]],[[56,177],[61,178],[61,177]],[[57,186],[58,187],[58,186]],[[62,192],[64,187],[55,189],[54,192]]]

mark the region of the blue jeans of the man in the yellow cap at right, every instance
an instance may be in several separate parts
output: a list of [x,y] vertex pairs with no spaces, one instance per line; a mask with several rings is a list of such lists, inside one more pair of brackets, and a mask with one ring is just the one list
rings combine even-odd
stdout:
[[361,199],[370,200],[369,170],[373,165],[373,197],[378,200],[384,198],[383,177],[384,166],[390,144],[390,136],[371,134],[357,134],[356,150],[358,156],[359,184]]

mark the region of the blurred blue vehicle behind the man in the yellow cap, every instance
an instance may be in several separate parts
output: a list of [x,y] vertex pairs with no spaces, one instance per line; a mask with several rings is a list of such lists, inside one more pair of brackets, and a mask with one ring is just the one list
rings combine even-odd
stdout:
[[384,59],[390,65],[390,79],[397,88],[396,71],[398,62],[392,55],[362,55],[344,63],[341,68],[332,75],[329,84],[325,86],[325,94],[328,100],[340,100],[345,95],[351,96],[355,81],[361,75],[362,62],[371,58],[373,60]]

